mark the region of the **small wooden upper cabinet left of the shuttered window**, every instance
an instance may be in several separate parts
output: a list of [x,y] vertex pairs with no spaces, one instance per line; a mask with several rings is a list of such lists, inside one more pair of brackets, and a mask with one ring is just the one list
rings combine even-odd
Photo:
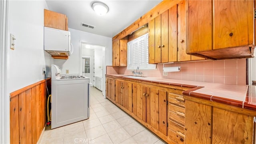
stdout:
[[127,66],[127,37],[112,42],[112,66]]

